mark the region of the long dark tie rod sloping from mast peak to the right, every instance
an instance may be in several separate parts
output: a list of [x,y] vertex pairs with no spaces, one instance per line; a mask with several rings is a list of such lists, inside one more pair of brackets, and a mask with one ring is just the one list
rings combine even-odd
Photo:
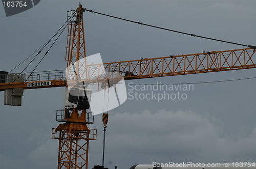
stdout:
[[120,18],[120,17],[108,15],[108,14],[103,14],[103,13],[100,13],[100,12],[95,12],[93,10],[88,10],[86,8],[85,8],[85,11],[89,11],[91,13],[96,13],[96,14],[100,14],[100,15],[104,15],[104,16],[108,16],[108,17],[124,20],[124,21],[127,21],[127,22],[137,23],[137,24],[140,24],[140,25],[155,27],[157,29],[161,29],[161,30],[165,30],[165,31],[171,31],[171,32],[179,33],[179,34],[190,35],[190,36],[193,36],[193,37],[204,38],[204,39],[209,39],[209,40],[214,40],[214,41],[219,41],[219,42],[225,42],[225,43],[230,43],[230,44],[234,44],[234,45],[246,46],[246,47],[249,47],[249,48],[256,49],[256,46],[252,46],[252,45],[245,45],[245,44],[241,44],[241,43],[234,43],[234,42],[229,42],[229,41],[223,41],[223,40],[220,40],[220,39],[208,38],[208,37],[199,36],[199,35],[195,35],[195,34],[188,34],[188,33],[185,33],[185,32],[170,30],[170,29],[166,29],[166,28],[160,27],[160,26],[154,26],[154,25],[151,25],[151,24],[146,24],[146,23],[142,23],[142,22],[136,22],[136,21],[129,20],[129,19],[124,19],[124,18]]

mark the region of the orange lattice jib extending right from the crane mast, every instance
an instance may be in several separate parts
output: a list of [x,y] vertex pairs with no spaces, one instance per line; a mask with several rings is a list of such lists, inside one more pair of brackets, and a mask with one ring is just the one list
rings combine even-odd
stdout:
[[[109,79],[116,72],[119,74],[126,72],[124,79],[129,80],[256,68],[256,56],[255,49],[246,48],[113,62],[103,64],[103,67],[105,70],[111,70],[108,71]],[[91,74],[91,77],[93,76]],[[103,81],[103,79],[99,79]],[[86,81],[93,82],[90,79],[86,79]]]

